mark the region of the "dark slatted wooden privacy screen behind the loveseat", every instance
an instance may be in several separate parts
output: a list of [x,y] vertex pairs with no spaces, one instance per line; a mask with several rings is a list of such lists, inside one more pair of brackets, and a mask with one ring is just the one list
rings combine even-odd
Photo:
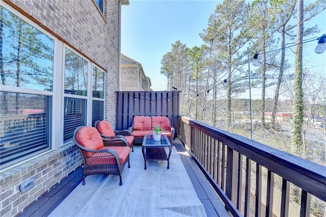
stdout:
[[177,133],[179,93],[180,91],[117,91],[116,129],[130,127],[134,116],[165,116],[170,119]]

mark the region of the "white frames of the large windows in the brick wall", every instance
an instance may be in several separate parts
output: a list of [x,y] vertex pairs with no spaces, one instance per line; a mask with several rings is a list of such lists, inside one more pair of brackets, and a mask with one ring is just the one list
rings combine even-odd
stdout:
[[[49,148],[46,150],[42,150],[39,152],[36,152],[35,154],[31,154],[26,158],[21,158],[21,160],[18,160],[16,163],[6,166],[4,170],[7,170],[9,168],[13,168],[17,166],[18,164],[21,164],[22,162],[29,161],[33,158],[36,158],[44,153],[50,152],[51,150],[60,148],[64,145],[67,145],[71,143],[71,140],[64,143],[63,137],[63,125],[64,125],[64,98],[65,97],[73,97],[73,98],[82,98],[86,99],[86,124],[88,126],[92,125],[92,102],[93,100],[103,101],[103,117],[105,117],[105,80],[106,80],[106,71],[103,70],[98,65],[94,64],[91,60],[85,58],[84,56],[80,55],[79,52],[77,52],[74,48],[68,46],[64,42],[60,41],[57,37],[53,36],[43,28],[41,28],[40,25],[35,23],[30,18],[26,17],[25,15],[21,14],[14,8],[12,8],[10,5],[8,5],[5,2],[1,2],[1,6],[4,7],[6,10],[10,11],[11,13],[15,14],[17,17],[21,18],[25,22],[32,25],[34,28],[48,36],[53,40],[54,43],[54,52],[53,52],[53,77],[52,77],[52,91],[43,91],[43,90],[34,90],[34,89],[27,89],[27,88],[18,88],[18,87],[12,87],[12,86],[3,86],[0,85],[0,91],[8,91],[8,92],[14,92],[14,93],[25,93],[25,94],[36,94],[36,95],[45,95],[51,97],[51,110],[50,110],[50,121],[49,121]],[[72,94],[66,94],[64,93],[64,82],[65,82],[65,49],[68,48],[72,52],[74,52],[79,57],[83,58],[88,62],[88,78],[87,78],[87,96],[78,96],[78,95],[72,95]],[[97,67],[98,69],[102,70],[104,72],[104,98],[96,98],[93,97],[92,93],[92,79],[93,79],[93,66]],[[1,169],[3,170],[3,169]]]

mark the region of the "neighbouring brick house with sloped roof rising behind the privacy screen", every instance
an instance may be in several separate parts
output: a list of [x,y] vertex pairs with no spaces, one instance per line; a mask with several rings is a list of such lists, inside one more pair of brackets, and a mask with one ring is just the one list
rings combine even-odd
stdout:
[[121,54],[121,91],[152,91],[151,79],[142,64]]

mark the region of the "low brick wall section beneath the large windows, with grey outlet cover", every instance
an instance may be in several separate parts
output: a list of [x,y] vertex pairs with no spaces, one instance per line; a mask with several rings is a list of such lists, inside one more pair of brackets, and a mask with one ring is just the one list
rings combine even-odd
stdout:
[[[76,145],[70,143],[1,173],[0,216],[10,217],[21,213],[82,162]],[[35,187],[30,191],[20,192],[20,184],[30,179],[35,179]]]

